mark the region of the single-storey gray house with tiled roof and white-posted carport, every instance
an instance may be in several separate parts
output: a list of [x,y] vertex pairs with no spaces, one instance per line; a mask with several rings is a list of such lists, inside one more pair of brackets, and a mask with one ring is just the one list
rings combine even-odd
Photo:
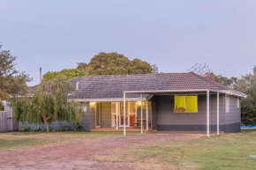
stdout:
[[73,78],[93,129],[240,131],[246,95],[193,72]]

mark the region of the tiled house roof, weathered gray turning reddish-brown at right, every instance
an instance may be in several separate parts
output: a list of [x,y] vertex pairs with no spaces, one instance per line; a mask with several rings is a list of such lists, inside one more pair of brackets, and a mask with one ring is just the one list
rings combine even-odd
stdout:
[[[110,99],[123,98],[127,91],[168,91],[168,90],[200,90],[237,92],[209,78],[193,72],[159,73],[140,75],[87,76],[69,80],[73,86],[79,82],[79,90],[73,94],[75,99]],[[138,98],[139,94],[128,93],[128,98]]]

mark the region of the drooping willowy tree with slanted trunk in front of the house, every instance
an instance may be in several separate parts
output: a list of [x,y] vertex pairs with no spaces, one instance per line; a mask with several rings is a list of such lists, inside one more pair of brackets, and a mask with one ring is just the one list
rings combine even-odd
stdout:
[[68,92],[71,91],[72,86],[63,78],[43,81],[38,85],[31,100],[28,98],[12,100],[14,118],[17,122],[44,122],[47,132],[49,132],[49,122],[59,119],[71,122],[77,119],[78,114],[85,114],[81,104],[74,100],[68,102]]

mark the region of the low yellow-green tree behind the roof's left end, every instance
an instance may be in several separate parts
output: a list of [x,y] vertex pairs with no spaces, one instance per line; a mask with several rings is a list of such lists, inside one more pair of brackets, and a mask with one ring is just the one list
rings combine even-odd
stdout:
[[65,80],[77,78],[79,76],[86,76],[87,73],[83,70],[78,69],[64,69],[61,71],[49,71],[43,75],[43,79],[46,81],[53,80],[56,78],[64,78]]

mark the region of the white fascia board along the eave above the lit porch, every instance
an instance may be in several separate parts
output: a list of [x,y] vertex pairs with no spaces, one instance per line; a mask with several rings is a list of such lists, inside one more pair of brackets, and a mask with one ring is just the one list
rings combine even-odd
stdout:
[[[78,101],[78,102],[116,102],[116,101],[124,101],[124,98],[110,98],[110,99],[69,99],[68,101]],[[141,98],[126,98],[126,101],[140,101]],[[146,98],[143,98],[145,101]]]

